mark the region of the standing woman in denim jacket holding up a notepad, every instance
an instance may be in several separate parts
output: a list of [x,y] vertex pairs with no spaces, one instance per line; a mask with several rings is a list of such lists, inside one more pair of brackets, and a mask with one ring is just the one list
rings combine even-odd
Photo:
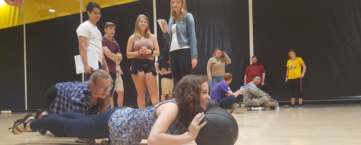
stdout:
[[170,44],[169,59],[175,85],[183,76],[192,74],[192,68],[197,65],[197,40],[193,15],[187,13],[186,0],[170,0],[170,7],[168,26],[162,20],[162,27],[164,39]]

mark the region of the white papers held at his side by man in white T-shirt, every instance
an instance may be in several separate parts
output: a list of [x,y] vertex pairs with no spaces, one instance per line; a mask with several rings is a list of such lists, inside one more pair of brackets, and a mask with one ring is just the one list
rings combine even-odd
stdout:
[[[96,53],[95,52],[87,53],[87,58],[88,58],[88,65],[93,67],[94,70],[98,70],[99,65],[98,65],[98,58],[97,58]],[[80,57],[80,55],[74,56],[74,60],[75,60],[75,69],[77,71],[77,74],[83,73],[84,65],[83,65],[82,58]]]

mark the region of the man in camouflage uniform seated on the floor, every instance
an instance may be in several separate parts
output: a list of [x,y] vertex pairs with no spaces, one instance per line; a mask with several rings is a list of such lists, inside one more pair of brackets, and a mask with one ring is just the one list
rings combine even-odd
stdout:
[[270,102],[273,100],[268,93],[261,91],[257,88],[257,85],[261,82],[261,76],[255,75],[252,82],[249,82],[247,87],[247,93],[243,95],[244,106],[276,106],[276,102]]

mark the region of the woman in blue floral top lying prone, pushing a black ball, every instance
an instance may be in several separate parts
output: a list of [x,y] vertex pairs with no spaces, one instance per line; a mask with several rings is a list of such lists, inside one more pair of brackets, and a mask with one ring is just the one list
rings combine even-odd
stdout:
[[[149,145],[180,145],[196,139],[205,117],[208,79],[205,75],[187,75],[173,91],[172,100],[146,109],[115,107],[97,115],[67,112],[35,119],[31,114],[18,123],[14,134],[33,129],[53,129],[87,139],[109,138],[114,145],[136,145],[148,137]],[[182,135],[187,132],[187,135]],[[95,144],[95,140],[87,140]]]

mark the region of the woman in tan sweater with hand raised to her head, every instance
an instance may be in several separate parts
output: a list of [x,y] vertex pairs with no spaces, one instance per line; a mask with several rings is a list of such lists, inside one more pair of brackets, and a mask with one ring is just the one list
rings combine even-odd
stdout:
[[[222,55],[225,58],[221,58]],[[213,57],[209,58],[207,64],[207,76],[209,84],[209,92],[212,93],[214,85],[224,80],[226,65],[231,64],[231,58],[222,51],[221,48],[216,48],[213,52]]]

